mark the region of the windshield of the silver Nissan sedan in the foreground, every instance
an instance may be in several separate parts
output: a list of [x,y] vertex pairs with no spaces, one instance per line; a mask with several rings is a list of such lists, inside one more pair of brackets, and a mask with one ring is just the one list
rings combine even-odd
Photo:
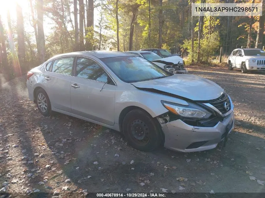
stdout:
[[173,74],[139,56],[100,58],[122,81],[135,83]]

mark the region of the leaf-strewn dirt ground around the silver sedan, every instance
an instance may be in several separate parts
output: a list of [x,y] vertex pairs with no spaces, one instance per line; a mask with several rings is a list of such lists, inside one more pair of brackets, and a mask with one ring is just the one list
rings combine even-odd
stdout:
[[219,84],[233,100],[235,128],[225,148],[140,152],[97,124],[58,113],[42,116],[28,99],[25,77],[2,83],[1,191],[265,192],[265,73],[187,69]]

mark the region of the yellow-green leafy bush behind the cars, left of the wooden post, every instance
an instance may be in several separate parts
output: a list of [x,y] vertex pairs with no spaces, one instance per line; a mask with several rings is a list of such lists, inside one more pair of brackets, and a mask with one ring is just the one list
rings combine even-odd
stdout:
[[[201,63],[209,63],[210,58],[218,53],[220,48],[220,37],[219,33],[215,32],[209,35],[209,38],[201,39],[201,49],[200,49],[200,57]],[[194,62],[197,62],[198,55],[198,40],[194,41],[194,53],[191,51],[191,40],[186,39],[184,44],[182,45],[184,49],[188,51],[188,61],[187,63],[191,63],[191,58],[193,58]]]

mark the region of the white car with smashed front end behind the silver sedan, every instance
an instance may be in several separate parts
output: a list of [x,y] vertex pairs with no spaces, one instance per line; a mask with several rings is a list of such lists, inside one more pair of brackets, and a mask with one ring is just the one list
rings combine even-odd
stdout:
[[149,51],[127,51],[126,53],[134,54],[135,56],[143,57],[152,63],[155,63],[159,67],[174,74],[186,74],[188,70],[185,69],[183,59],[179,56],[171,56],[163,58],[156,53]]

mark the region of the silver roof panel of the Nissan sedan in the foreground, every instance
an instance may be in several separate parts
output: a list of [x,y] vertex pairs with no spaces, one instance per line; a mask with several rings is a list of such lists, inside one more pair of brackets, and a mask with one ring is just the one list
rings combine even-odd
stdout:
[[[117,56],[130,56],[128,53],[124,52],[116,52],[116,51],[81,51],[81,52],[70,52],[70,53],[63,53],[56,55],[55,57],[61,57],[64,55],[73,55],[73,56],[78,56],[78,55],[93,55],[97,58],[108,58],[108,57],[117,57]],[[54,58],[55,58],[54,57]]]

